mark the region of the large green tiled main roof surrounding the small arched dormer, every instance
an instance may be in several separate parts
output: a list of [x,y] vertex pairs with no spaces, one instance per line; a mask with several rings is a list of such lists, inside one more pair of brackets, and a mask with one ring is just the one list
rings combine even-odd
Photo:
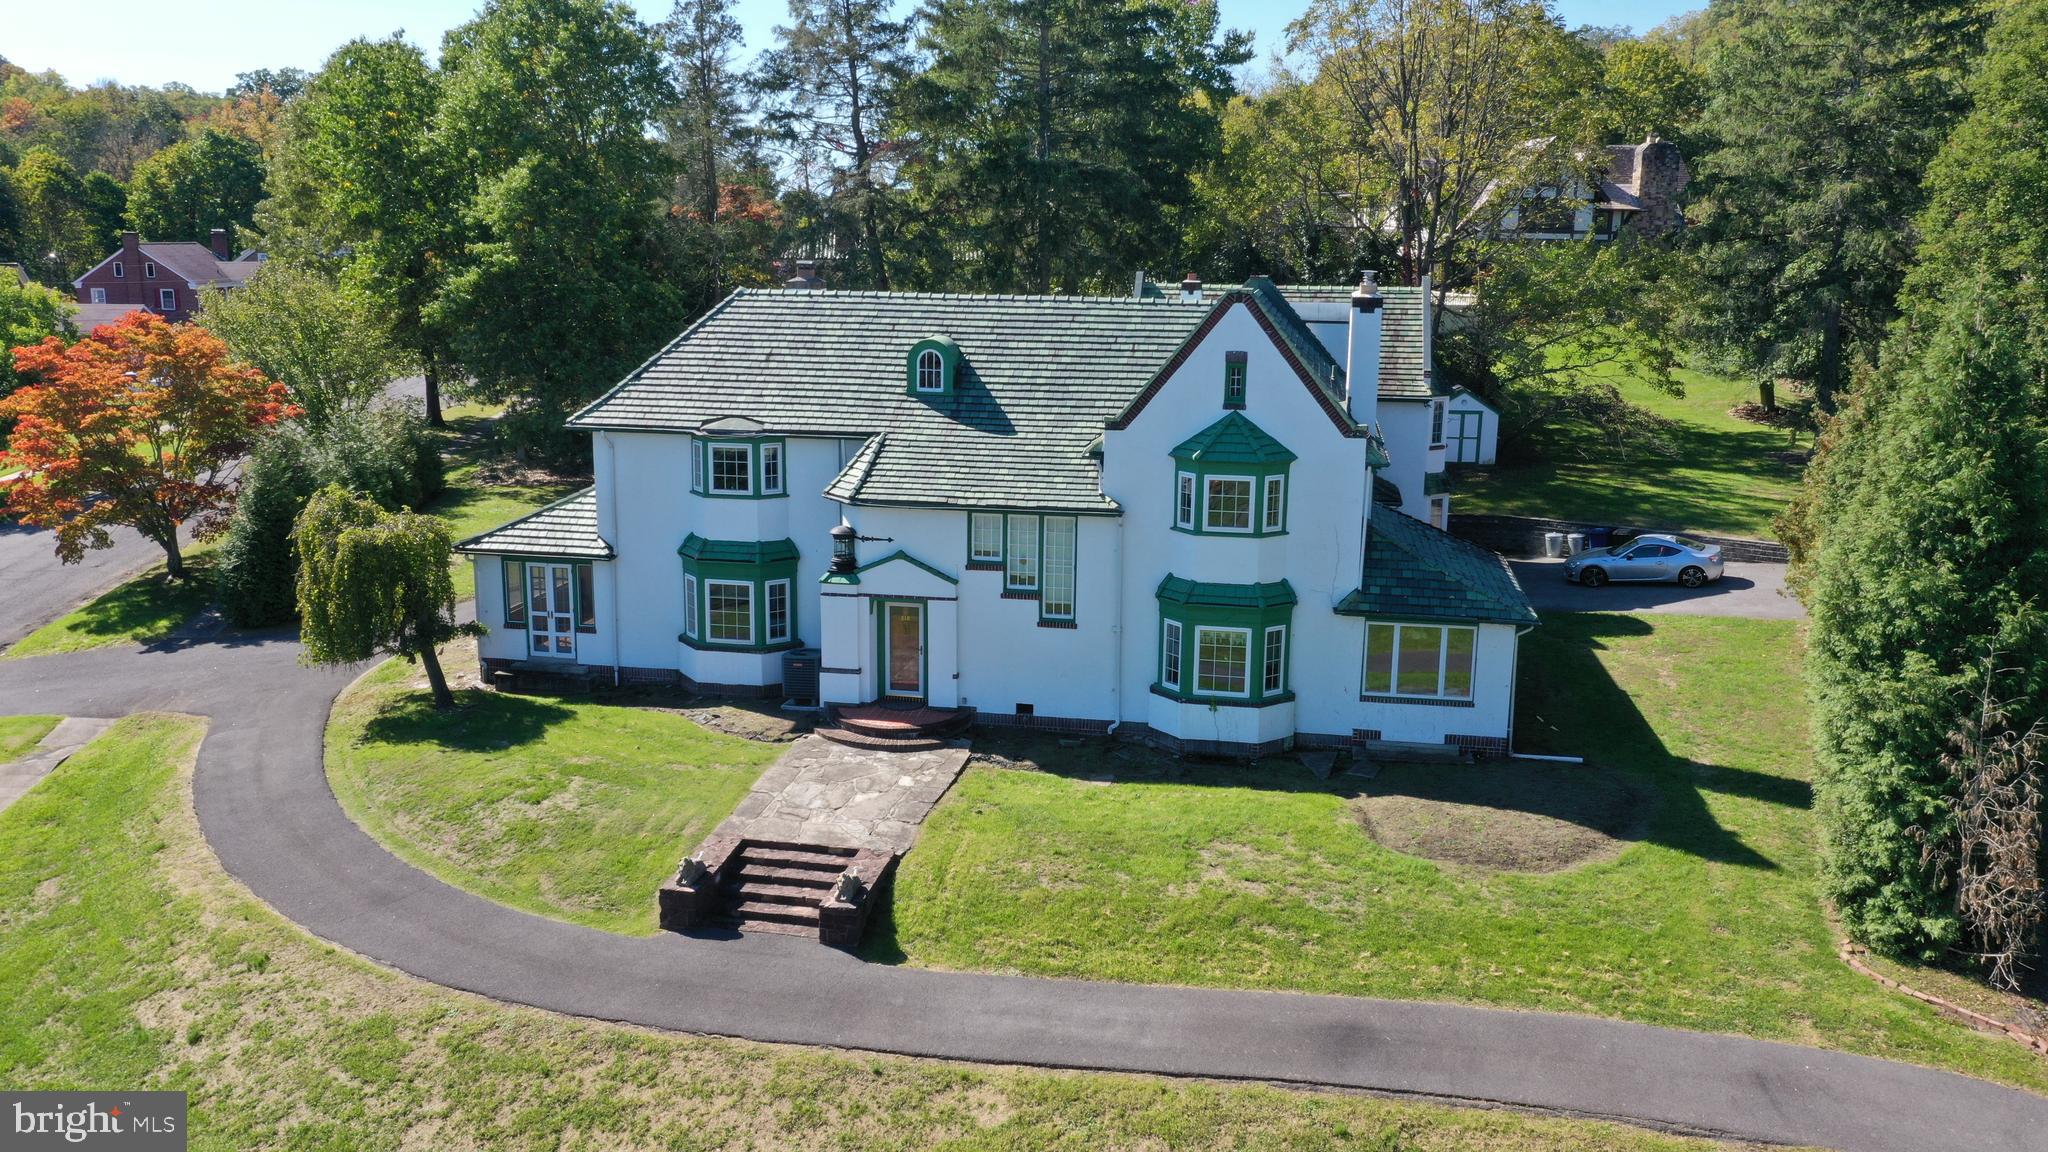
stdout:
[[[1112,512],[1087,445],[1208,312],[1178,299],[741,289],[569,426],[692,430],[750,416],[768,435],[868,439],[827,490],[840,500]],[[934,334],[961,346],[954,392],[907,396],[905,355]]]

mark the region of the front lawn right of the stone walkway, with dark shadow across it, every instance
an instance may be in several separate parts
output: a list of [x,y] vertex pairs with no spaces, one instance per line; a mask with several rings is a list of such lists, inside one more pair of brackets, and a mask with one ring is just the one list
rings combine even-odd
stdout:
[[1524,646],[1516,740],[1593,767],[1526,771],[1589,773],[1651,808],[1626,851],[1546,875],[1374,842],[1356,789],[1413,795],[1430,769],[1323,783],[1284,760],[977,736],[1049,771],[963,775],[903,859],[870,955],[1589,1013],[2048,1088],[2048,1062],[1835,959],[1798,664],[1794,623],[1548,617]]

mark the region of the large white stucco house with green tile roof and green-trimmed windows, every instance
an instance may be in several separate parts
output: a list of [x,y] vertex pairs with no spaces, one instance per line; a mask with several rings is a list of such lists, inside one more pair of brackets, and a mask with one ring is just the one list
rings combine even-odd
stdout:
[[[1430,527],[1425,289],[737,291],[569,420],[596,484],[459,545],[485,670],[1141,734],[1505,752],[1536,623]],[[1395,506],[1374,506],[1374,496]]]

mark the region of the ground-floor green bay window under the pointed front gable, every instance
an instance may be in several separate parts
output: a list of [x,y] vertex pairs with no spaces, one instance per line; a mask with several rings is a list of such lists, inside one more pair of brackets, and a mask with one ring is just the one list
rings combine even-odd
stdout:
[[1159,582],[1153,693],[1182,703],[1266,707],[1294,699],[1288,666],[1294,590],[1272,584]]

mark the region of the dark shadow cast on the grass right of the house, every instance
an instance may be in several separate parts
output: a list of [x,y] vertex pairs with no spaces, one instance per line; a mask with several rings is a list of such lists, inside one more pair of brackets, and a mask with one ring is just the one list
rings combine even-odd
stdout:
[[1618,613],[1550,617],[1546,635],[1522,648],[1516,742],[1522,750],[1579,754],[1589,767],[1616,769],[1651,785],[1657,814],[1645,834],[1649,842],[1716,863],[1776,869],[1776,861],[1722,828],[1704,793],[1808,810],[1812,785],[1671,752],[1597,658],[1604,640],[1649,635],[1653,627]]

